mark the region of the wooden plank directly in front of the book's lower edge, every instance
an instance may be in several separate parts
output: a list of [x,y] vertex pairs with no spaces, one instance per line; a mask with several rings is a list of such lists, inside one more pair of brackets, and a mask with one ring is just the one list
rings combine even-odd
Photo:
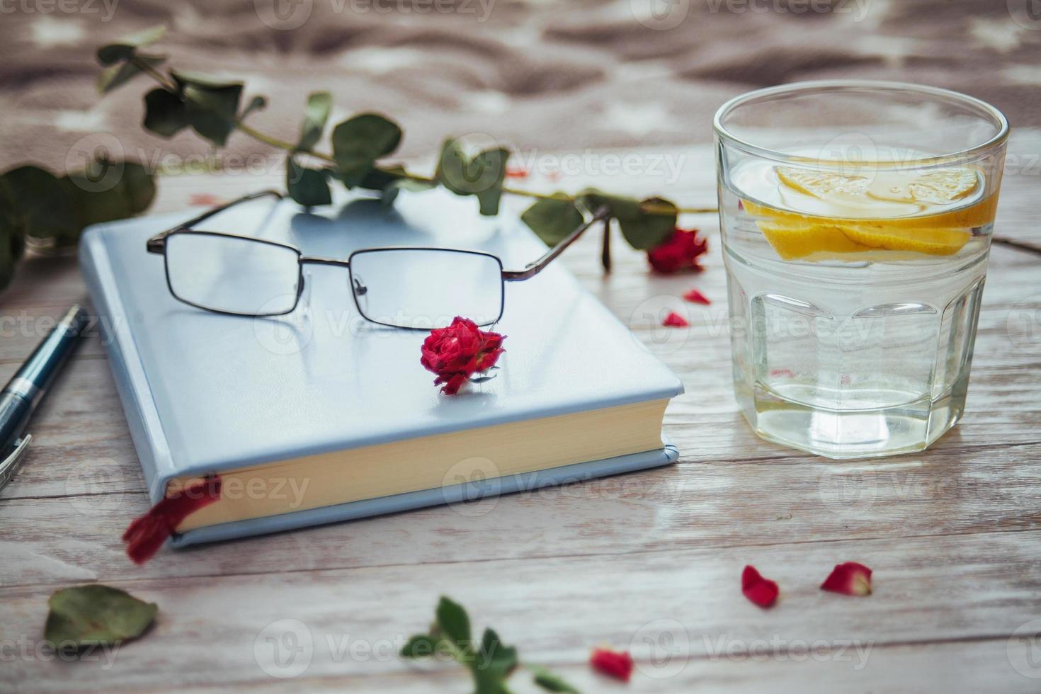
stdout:
[[[677,438],[683,433],[678,430]],[[694,447],[694,442],[680,441]],[[148,508],[132,459],[92,456],[64,496],[3,502],[0,585],[624,555],[668,548],[1041,530],[1041,444],[887,462],[705,460],[563,488],[164,550],[133,567],[120,536]],[[54,462],[57,469],[58,461]],[[42,466],[43,467],[43,466]],[[275,487],[273,486],[272,489]],[[1000,509],[1000,513],[995,513]],[[524,529],[518,532],[517,529]],[[509,538],[505,541],[504,538]]]

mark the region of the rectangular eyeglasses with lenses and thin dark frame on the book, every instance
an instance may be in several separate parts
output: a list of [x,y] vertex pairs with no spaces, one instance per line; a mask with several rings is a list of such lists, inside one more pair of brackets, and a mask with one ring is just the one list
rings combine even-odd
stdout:
[[481,251],[388,247],[358,250],[347,259],[325,258],[306,256],[288,243],[195,228],[229,207],[268,196],[282,198],[276,190],[245,196],[148,239],[148,252],[163,256],[175,299],[225,315],[286,315],[304,293],[304,265],[336,265],[347,268],[358,313],[372,323],[430,330],[459,315],[489,326],[503,315],[506,282],[535,277],[608,215],[606,208],[598,210],[518,271],[504,269],[498,256]]

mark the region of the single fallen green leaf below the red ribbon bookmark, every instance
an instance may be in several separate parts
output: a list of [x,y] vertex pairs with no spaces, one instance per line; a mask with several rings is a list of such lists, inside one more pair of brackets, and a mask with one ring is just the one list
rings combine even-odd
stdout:
[[47,601],[45,638],[55,648],[116,645],[148,628],[158,608],[126,591],[100,584],[55,591]]

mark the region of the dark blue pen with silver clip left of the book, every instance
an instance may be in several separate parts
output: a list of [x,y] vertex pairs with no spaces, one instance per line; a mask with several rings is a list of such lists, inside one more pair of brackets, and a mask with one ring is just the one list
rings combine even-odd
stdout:
[[29,434],[22,435],[29,416],[79,343],[86,323],[86,311],[79,304],[69,309],[0,391],[0,458],[3,460],[0,462],[0,489],[15,477],[26,446],[32,440]]

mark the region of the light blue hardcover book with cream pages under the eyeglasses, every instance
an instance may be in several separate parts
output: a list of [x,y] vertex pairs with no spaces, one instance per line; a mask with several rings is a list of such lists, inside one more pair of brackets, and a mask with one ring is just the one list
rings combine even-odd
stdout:
[[[257,200],[203,228],[347,258],[374,247],[493,253],[522,268],[545,247],[434,190],[395,208],[354,200],[309,213]],[[220,473],[221,499],[174,546],[537,489],[674,462],[661,438],[682,384],[561,263],[510,282],[496,377],[442,395],[425,332],[358,315],[345,268],[307,265],[284,316],[220,315],[175,300],[146,240],[181,213],[88,229],[80,263],[153,503]],[[202,259],[201,259],[202,260]],[[201,272],[201,271],[200,271]],[[449,277],[421,278],[449,282]]]

